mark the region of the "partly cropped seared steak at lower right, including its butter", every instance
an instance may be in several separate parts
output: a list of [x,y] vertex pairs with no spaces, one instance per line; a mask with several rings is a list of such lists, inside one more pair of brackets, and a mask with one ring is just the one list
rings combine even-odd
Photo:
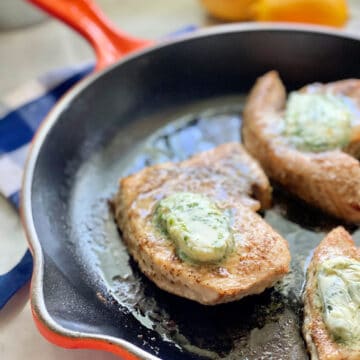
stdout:
[[360,359],[360,251],[338,227],[307,271],[303,333],[312,359]]

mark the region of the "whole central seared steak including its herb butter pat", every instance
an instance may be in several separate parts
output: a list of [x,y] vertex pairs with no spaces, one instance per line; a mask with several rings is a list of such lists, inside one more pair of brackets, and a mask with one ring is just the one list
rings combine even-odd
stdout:
[[214,305],[261,293],[288,272],[287,242],[254,212],[270,201],[257,162],[230,143],[122,179],[114,205],[123,240],[144,274],[168,292]]

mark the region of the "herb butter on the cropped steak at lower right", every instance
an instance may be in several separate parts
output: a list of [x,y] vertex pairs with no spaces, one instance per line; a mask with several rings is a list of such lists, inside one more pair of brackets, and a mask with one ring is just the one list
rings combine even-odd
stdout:
[[321,264],[318,291],[334,339],[360,350],[360,262],[339,256]]

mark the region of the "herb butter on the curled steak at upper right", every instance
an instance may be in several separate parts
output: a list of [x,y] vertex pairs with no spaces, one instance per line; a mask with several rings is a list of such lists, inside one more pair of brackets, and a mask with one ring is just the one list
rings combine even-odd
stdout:
[[331,94],[291,93],[284,135],[304,151],[342,148],[350,141],[351,112],[341,98]]

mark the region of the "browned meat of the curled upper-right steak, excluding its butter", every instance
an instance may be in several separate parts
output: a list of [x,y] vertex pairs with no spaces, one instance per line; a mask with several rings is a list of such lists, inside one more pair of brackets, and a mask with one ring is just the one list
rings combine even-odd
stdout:
[[[316,86],[352,96],[360,103],[360,80]],[[351,142],[343,151],[298,151],[282,142],[276,131],[285,103],[286,91],[275,71],[257,80],[244,110],[246,149],[270,178],[290,192],[336,217],[360,222],[360,163],[354,157],[360,153],[359,129],[353,129]]]

